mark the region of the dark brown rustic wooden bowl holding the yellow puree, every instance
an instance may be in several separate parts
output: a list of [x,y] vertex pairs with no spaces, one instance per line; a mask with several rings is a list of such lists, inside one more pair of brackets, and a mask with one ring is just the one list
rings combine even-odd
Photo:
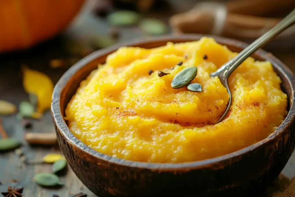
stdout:
[[[199,40],[201,35],[164,36],[121,43],[96,51],[72,66],[56,84],[51,112],[58,144],[77,177],[93,193],[105,196],[207,196],[235,194],[264,186],[278,176],[295,145],[293,104],[295,81],[291,71],[271,53],[258,50],[256,60],[268,60],[281,77],[281,88],[288,95],[289,113],[283,123],[266,139],[220,157],[186,163],[146,163],[101,154],[78,140],[64,120],[64,111],[80,82],[97,64],[119,46],[155,48],[173,43]],[[247,45],[236,40],[213,37],[232,51]]]

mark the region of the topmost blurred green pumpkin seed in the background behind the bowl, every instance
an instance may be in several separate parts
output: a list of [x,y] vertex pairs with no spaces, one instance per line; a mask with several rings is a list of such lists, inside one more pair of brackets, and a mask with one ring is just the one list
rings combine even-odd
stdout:
[[106,17],[110,25],[129,26],[139,22],[140,15],[130,10],[113,12]]

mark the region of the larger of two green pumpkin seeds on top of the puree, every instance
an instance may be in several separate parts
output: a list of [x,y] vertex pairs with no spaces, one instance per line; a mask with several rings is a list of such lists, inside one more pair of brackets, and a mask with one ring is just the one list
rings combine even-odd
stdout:
[[171,82],[172,88],[181,88],[188,85],[197,75],[197,67],[189,67],[178,72]]

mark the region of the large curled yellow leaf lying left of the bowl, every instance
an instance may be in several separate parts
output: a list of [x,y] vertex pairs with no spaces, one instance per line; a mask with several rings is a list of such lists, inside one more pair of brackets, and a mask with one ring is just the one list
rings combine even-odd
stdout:
[[22,66],[23,86],[28,94],[35,94],[38,98],[37,113],[43,113],[50,108],[53,92],[51,79],[39,71]]

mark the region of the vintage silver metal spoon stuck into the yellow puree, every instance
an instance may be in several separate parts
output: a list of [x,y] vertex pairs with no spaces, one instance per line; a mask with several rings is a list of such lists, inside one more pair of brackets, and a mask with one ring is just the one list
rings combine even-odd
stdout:
[[224,114],[219,119],[221,122],[227,113],[230,110],[230,106],[232,104],[232,94],[230,93],[230,88],[228,86],[227,79],[232,74],[232,72],[239,66],[246,58],[248,58],[253,52],[255,52],[258,48],[266,44],[273,37],[281,33],[286,28],[290,27],[295,23],[295,9],[288,14],[285,18],[283,18],[276,26],[274,26],[271,30],[263,34],[260,38],[255,40],[252,44],[246,47],[243,51],[241,51],[237,56],[232,58],[227,63],[223,64],[217,71],[210,74],[210,76],[218,76],[221,84],[227,89],[227,93],[230,95],[230,100],[227,103],[226,110]]

